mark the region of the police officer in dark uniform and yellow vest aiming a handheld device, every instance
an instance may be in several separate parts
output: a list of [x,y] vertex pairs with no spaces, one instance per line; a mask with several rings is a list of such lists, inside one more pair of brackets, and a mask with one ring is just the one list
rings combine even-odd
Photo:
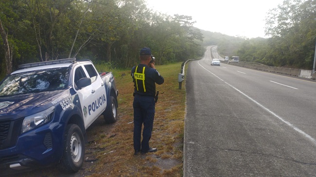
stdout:
[[[149,146],[155,116],[156,83],[159,85],[164,79],[155,67],[155,58],[150,48],[140,49],[140,64],[134,66],[131,76],[134,82],[134,150],[139,152],[156,152],[157,148]],[[141,140],[141,127],[144,125]]]

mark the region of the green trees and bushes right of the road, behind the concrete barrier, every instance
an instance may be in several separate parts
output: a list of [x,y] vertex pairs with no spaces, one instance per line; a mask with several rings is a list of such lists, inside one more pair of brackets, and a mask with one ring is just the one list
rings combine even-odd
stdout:
[[313,68],[316,43],[316,0],[284,0],[269,11],[265,33],[270,38],[245,40],[241,61],[299,69]]

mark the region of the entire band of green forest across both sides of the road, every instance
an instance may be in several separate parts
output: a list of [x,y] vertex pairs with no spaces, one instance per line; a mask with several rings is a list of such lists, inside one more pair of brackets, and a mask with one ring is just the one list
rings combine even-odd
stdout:
[[70,57],[129,68],[142,47],[152,48],[157,64],[197,58],[203,46],[217,45],[240,61],[313,68],[316,0],[284,0],[267,14],[269,38],[252,39],[199,30],[191,16],[154,12],[144,0],[1,0],[0,10],[0,78],[11,63],[15,70]]

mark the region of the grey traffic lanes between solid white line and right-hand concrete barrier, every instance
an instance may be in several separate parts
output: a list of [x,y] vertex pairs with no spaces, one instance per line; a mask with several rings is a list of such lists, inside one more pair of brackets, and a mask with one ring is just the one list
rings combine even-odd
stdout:
[[[302,129],[307,129],[306,131],[316,137],[315,111],[313,111],[316,106],[315,82],[246,68],[241,69],[247,73],[246,76],[243,74],[232,75],[232,77],[226,78],[226,81],[255,100],[260,100],[265,107],[278,112],[287,121],[298,124],[298,127]],[[218,75],[221,76],[220,73]]]

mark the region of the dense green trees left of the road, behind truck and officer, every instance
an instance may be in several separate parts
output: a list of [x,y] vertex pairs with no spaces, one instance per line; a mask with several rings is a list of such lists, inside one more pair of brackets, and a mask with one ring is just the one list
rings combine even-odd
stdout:
[[148,9],[143,0],[1,0],[0,25],[13,70],[18,64],[61,58],[90,59],[131,67],[139,50],[152,49],[157,64],[201,56],[201,32],[191,16],[167,16]]

